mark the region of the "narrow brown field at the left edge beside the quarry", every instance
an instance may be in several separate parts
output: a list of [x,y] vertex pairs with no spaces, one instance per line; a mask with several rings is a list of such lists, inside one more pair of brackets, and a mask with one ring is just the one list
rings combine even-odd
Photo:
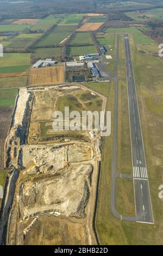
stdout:
[[4,142],[9,130],[13,106],[0,107],[0,170],[4,169]]

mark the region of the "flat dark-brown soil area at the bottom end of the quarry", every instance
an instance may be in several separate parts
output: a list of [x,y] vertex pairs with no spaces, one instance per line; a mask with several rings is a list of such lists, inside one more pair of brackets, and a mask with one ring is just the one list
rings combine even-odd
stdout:
[[[40,217],[27,234],[24,245],[87,245],[85,225],[63,218]],[[73,234],[73,235],[72,235]]]

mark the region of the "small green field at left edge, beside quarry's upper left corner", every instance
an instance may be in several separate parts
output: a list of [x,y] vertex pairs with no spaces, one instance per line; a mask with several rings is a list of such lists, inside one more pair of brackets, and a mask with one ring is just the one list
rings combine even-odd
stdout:
[[14,89],[2,89],[0,90],[0,106],[10,106],[15,104],[17,95],[16,88]]

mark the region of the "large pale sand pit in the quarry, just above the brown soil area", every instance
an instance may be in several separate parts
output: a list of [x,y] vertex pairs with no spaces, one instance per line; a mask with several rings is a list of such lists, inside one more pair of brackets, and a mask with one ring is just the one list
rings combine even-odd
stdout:
[[[55,175],[28,179],[20,183],[18,203],[22,220],[42,214],[55,216],[85,217],[89,199],[89,175],[91,164],[77,164]],[[86,179],[87,178],[87,179]]]

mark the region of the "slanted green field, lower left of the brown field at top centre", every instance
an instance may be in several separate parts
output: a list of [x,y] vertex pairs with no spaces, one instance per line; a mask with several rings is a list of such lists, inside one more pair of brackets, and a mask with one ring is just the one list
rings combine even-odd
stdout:
[[62,40],[67,38],[70,33],[48,33],[46,36],[41,38],[35,46],[54,46],[60,44]]

